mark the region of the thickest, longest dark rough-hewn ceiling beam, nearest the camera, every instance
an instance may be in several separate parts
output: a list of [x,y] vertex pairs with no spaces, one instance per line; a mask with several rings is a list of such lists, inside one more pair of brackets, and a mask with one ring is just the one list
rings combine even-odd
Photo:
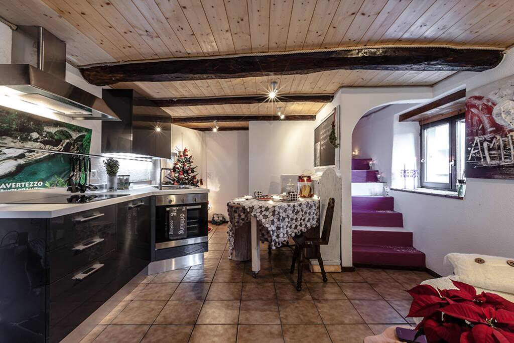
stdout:
[[499,50],[423,48],[366,48],[296,52],[283,55],[192,58],[82,67],[91,84],[234,79],[304,75],[336,69],[483,71],[503,58]]

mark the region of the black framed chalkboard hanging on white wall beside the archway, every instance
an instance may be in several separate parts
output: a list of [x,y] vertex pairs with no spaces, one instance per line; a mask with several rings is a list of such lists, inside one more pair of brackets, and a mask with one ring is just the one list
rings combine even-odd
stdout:
[[[314,129],[314,166],[326,167],[336,165],[336,148],[328,141],[332,123],[336,120],[337,108]],[[336,135],[339,138],[339,135]]]

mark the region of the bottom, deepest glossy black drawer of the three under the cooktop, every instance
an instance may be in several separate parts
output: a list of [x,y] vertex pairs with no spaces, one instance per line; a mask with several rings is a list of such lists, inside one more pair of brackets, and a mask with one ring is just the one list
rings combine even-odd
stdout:
[[[92,269],[90,269],[92,268]],[[49,341],[59,342],[105,301],[96,298],[115,282],[119,261],[115,251],[70,273],[47,287],[49,299]],[[112,291],[115,293],[115,290]]]

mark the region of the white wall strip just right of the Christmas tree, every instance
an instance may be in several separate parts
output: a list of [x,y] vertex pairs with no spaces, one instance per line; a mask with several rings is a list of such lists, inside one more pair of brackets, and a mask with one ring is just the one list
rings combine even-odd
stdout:
[[227,215],[229,200],[248,193],[248,131],[206,132],[211,213]]

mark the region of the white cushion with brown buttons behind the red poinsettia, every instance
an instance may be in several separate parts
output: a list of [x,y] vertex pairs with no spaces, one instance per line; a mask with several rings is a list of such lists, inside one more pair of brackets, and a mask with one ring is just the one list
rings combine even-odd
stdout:
[[[477,263],[480,258],[484,263]],[[453,266],[459,281],[485,290],[514,294],[514,266],[507,263],[514,258],[478,254],[448,254],[445,264]],[[496,292],[495,292],[496,293]]]

